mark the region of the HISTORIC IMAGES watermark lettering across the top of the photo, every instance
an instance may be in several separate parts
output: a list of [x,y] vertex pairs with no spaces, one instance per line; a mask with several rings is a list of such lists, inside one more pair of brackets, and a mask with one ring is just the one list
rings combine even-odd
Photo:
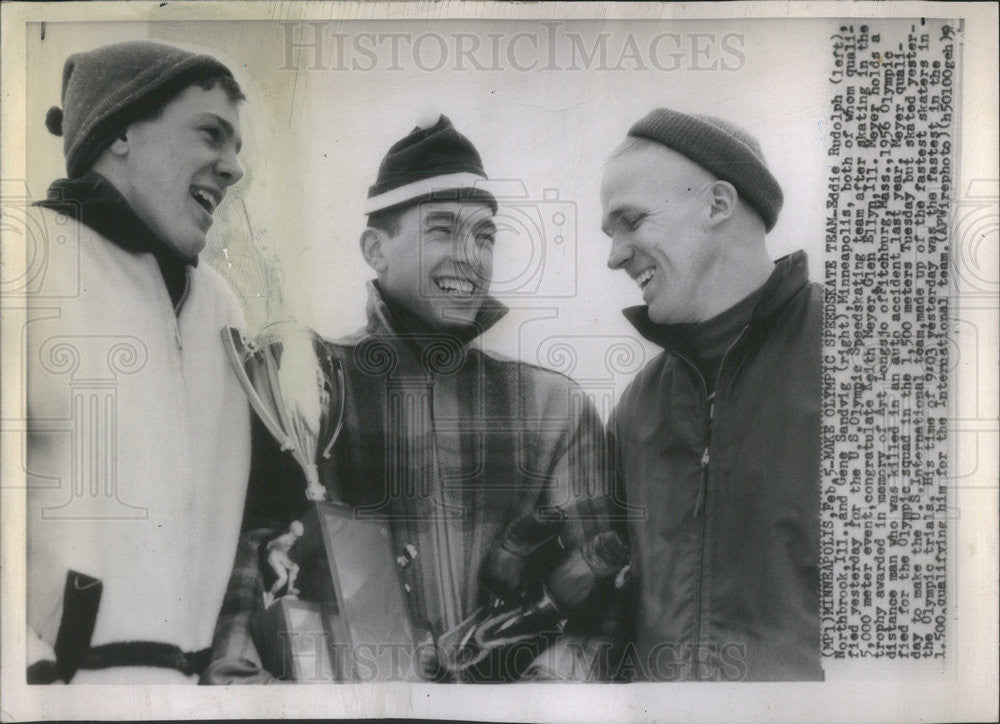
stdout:
[[[737,71],[746,63],[742,33],[662,32],[651,38],[598,33],[557,21],[513,32],[343,32],[343,23],[295,21],[284,33],[280,70],[403,71]],[[367,27],[370,27],[367,26]]]

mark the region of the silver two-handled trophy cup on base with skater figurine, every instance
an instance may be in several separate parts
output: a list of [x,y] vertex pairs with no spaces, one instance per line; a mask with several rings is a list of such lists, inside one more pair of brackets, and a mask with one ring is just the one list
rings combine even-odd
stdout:
[[252,342],[235,327],[222,336],[250,405],[302,467],[312,501],[261,547],[262,570],[276,574],[252,622],[262,662],[299,682],[405,676],[414,635],[389,527],[326,501],[319,479],[318,463],[330,457],[344,414],[340,361],[295,322],[268,325]]

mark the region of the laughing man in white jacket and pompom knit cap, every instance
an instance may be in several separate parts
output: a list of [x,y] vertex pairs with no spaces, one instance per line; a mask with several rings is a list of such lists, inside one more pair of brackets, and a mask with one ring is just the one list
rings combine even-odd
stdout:
[[242,314],[198,254],[243,175],[242,99],[158,43],[66,60],[46,125],[67,177],[34,210],[59,238],[26,357],[30,682],[194,683],[208,662],[250,421],[220,337]]

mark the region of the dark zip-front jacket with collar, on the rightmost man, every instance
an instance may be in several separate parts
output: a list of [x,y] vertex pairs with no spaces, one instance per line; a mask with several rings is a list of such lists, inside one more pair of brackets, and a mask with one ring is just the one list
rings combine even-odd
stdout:
[[[637,578],[639,678],[817,680],[823,291],[776,263],[710,400],[676,328],[626,316],[664,352],[610,429]],[[697,662],[701,662],[700,665]]]

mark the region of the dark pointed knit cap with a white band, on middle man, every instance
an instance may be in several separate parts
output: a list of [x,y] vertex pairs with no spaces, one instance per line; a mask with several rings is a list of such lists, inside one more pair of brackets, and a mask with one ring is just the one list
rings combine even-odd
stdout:
[[496,199],[481,187],[485,180],[476,147],[442,115],[433,126],[417,126],[392,145],[368,188],[365,213],[428,199],[461,199],[489,204],[495,214]]

